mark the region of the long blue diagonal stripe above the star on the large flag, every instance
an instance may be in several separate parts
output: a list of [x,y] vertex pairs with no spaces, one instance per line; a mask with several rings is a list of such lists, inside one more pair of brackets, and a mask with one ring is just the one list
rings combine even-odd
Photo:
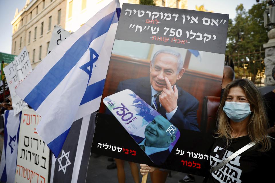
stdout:
[[34,110],[37,110],[47,96],[76,65],[87,51],[90,43],[109,30],[114,15],[115,11],[99,20],[89,31],[82,35],[24,98],[24,101]]

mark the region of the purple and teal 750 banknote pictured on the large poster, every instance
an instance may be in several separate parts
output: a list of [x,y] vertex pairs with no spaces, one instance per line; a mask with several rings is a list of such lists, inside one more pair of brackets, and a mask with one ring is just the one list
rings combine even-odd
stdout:
[[180,137],[174,125],[129,89],[105,97],[103,102],[152,162],[165,162]]

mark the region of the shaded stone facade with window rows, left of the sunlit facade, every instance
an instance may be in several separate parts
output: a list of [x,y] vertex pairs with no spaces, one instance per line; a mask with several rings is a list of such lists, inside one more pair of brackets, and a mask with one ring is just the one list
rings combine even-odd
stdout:
[[54,25],[65,27],[66,0],[29,0],[15,12],[11,53],[26,46],[34,68],[47,54]]

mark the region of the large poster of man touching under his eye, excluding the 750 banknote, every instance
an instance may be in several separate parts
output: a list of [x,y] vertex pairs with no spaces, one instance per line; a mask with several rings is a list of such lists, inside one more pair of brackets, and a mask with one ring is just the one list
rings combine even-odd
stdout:
[[[228,17],[123,4],[102,98],[129,89],[149,106],[160,103],[158,113],[178,128],[180,137],[166,161],[157,165],[150,156],[164,151],[155,149],[156,144],[149,146],[150,139],[145,136],[145,152],[147,148],[154,148],[152,154],[145,153],[142,143],[134,140],[101,102],[92,152],[206,175],[213,138],[205,133],[205,126],[209,124],[201,116],[205,110],[213,109],[203,108],[203,99],[205,96],[219,98],[221,94]],[[114,101],[119,104],[118,98],[109,103]],[[135,102],[132,105],[136,105]],[[123,111],[117,112],[124,115]],[[139,112],[146,111],[140,108]],[[135,124],[133,118],[125,123]],[[211,125],[215,129],[215,124]],[[152,131],[158,138],[156,142],[167,129],[158,127],[156,133]],[[108,148],[110,146],[112,148]]]

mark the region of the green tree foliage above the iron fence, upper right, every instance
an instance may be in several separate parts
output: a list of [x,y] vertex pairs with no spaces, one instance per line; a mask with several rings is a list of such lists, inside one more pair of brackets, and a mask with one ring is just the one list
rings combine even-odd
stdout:
[[243,4],[237,6],[234,21],[229,19],[227,54],[259,50],[259,47],[268,41],[268,30],[264,28],[263,16],[266,6],[266,1],[254,4],[248,11],[244,9]]

